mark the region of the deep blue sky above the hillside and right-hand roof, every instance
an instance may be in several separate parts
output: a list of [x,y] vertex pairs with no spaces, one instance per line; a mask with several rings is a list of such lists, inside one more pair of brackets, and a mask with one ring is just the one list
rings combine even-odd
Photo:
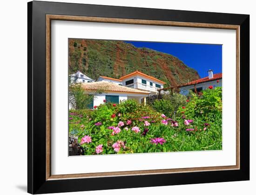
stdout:
[[125,41],[136,47],[147,47],[159,52],[169,53],[186,65],[198,71],[201,78],[208,76],[207,71],[222,72],[222,45],[187,44],[187,43],[161,43]]

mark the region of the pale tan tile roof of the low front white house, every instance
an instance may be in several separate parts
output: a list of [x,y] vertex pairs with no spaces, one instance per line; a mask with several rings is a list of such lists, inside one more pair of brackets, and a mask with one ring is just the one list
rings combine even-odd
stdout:
[[144,94],[148,95],[150,91],[137,90],[119,84],[110,83],[108,81],[97,81],[92,83],[82,83],[82,86],[85,90],[95,91],[101,90],[106,92],[123,92],[123,93],[135,93],[135,94]]

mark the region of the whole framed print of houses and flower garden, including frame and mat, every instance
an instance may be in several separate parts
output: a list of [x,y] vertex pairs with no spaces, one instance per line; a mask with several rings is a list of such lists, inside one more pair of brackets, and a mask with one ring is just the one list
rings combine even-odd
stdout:
[[249,15],[28,3],[29,193],[241,180]]

